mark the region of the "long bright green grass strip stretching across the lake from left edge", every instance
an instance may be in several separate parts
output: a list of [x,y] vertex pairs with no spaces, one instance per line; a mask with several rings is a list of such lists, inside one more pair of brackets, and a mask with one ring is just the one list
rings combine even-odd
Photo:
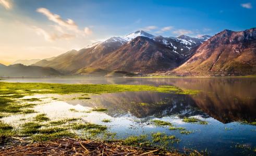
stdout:
[[[153,85],[120,85],[120,84],[50,84],[50,83],[7,83],[0,82],[0,95],[20,94],[19,90],[24,90],[24,94],[101,94],[116,92],[177,92],[182,93],[182,89],[176,86],[153,86]],[[30,91],[25,91],[30,90]],[[2,94],[3,93],[3,94]]]

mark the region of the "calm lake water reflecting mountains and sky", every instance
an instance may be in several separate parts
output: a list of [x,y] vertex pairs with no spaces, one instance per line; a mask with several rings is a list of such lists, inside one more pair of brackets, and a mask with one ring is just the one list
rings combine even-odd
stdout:
[[[252,78],[178,78],[178,79],[7,79],[8,82],[45,82],[71,84],[150,84],[174,85],[184,89],[196,89],[202,92],[198,96],[175,95],[152,92],[123,92],[92,95],[89,100],[60,98],[50,100],[46,97],[44,105],[36,110],[47,113],[51,119],[63,116],[80,116],[86,121],[108,125],[109,131],[117,133],[116,138],[130,135],[165,132],[175,135],[181,141],[174,144],[178,149],[193,148],[207,150],[210,155],[253,155],[256,148],[256,126],[241,124],[239,121],[256,121],[256,79]],[[59,96],[59,95],[55,95]],[[70,96],[70,95],[68,95]],[[47,97],[49,99],[47,99]],[[59,97],[58,97],[59,98]],[[141,103],[144,103],[143,105]],[[90,110],[93,107],[107,108],[107,112],[92,112],[86,115],[68,111],[70,108]],[[27,116],[9,116],[8,123],[21,124],[18,118]],[[196,116],[208,125],[182,122],[184,116]],[[103,123],[102,119],[111,119]],[[176,126],[185,127],[192,134],[184,135],[179,131],[170,131],[167,127],[157,127],[151,120],[164,120]],[[250,146],[252,150],[236,148],[237,144]]]

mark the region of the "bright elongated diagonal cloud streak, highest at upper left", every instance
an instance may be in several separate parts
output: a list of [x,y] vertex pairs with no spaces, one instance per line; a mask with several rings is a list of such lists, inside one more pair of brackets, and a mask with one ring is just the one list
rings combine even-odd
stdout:
[[55,23],[58,23],[59,25],[66,27],[69,30],[78,31],[77,24],[71,19],[67,19],[65,21],[59,15],[53,14],[50,10],[48,10],[46,8],[38,8],[36,11],[45,15],[49,20],[51,20]]

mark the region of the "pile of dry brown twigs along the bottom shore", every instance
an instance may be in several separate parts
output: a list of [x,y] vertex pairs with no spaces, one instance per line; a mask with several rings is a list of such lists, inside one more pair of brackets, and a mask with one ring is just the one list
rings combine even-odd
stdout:
[[77,140],[63,138],[50,142],[34,143],[19,140],[20,144],[8,145],[0,155],[182,155],[155,148],[123,146],[119,141]]

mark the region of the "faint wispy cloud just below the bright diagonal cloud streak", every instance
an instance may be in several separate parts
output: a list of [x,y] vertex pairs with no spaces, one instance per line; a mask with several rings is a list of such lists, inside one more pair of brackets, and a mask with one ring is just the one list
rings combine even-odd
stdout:
[[61,34],[57,34],[57,33],[48,33],[47,31],[41,29],[41,28],[38,28],[38,27],[35,27],[33,26],[32,27],[35,32],[39,35],[43,35],[44,36],[44,39],[46,41],[55,41],[55,40],[58,40],[58,39],[66,39],[66,40],[69,40],[71,38],[74,38],[75,35],[73,34],[67,34],[67,33],[61,33]]

